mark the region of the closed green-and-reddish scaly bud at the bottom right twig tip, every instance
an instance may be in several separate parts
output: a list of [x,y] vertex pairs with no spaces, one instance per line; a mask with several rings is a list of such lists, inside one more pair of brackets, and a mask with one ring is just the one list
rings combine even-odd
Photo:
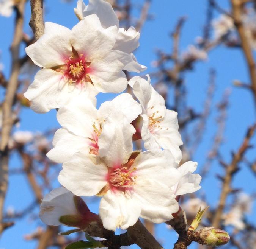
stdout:
[[207,246],[222,246],[228,243],[230,237],[226,231],[205,227],[195,232],[198,242]]

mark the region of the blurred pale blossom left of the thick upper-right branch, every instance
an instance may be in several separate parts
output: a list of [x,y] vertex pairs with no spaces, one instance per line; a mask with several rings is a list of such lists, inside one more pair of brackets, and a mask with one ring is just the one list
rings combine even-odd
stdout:
[[212,22],[212,26],[214,29],[215,39],[221,39],[230,31],[235,30],[234,20],[224,14],[220,15],[217,19],[214,19]]

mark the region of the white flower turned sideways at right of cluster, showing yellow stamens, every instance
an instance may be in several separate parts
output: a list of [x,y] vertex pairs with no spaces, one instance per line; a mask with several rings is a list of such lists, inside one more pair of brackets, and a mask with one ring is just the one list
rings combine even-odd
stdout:
[[169,149],[179,163],[182,154],[179,145],[182,145],[181,135],[179,134],[179,125],[177,112],[168,110],[165,107],[165,100],[155,91],[148,81],[135,76],[129,81],[133,88],[133,93],[142,106],[143,125],[141,128],[141,137],[146,149],[163,148]]

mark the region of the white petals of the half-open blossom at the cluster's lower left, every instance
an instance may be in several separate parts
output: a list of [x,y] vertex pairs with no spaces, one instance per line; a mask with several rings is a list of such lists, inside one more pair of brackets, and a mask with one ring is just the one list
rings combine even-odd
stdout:
[[74,194],[66,188],[55,188],[44,196],[40,205],[40,219],[51,226],[61,225],[59,218],[63,215],[75,215]]

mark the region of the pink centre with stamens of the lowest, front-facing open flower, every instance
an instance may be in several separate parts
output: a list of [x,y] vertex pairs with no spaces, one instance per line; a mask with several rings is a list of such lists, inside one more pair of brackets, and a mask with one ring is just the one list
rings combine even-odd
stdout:
[[136,182],[137,176],[135,176],[136,167],[131,166],[127,168],[127,166],[121,165],[120,168],[110,168],[108,172],[108,183],[111,188],[119,189],[121,191],[125,191],[126,188],[132,188]]

